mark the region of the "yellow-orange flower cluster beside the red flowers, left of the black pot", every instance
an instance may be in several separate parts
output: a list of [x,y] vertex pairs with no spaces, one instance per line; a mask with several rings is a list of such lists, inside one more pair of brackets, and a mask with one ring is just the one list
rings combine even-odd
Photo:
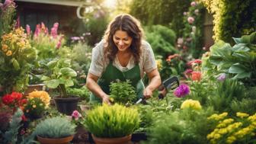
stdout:
[[48,107],[50,104],[50,96],[46,91],[33,91],[30,92],[27,96],[28,99],[35,99],[35,98],[39,98],[43,104],[45,105],[45,107]]

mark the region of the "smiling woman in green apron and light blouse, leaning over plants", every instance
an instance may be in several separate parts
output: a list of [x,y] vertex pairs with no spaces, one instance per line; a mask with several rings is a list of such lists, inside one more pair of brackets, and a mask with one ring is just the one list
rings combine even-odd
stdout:
[[[107,27],[103,40],[92,50],[86,86],[92,92],[91,102],[110,104],[110,82],[129,79],[137,98],[150,98],[161,84],[152,48],[142,40],[142,27],[130,14],[120,14]],[[144,88],[142,77],[149,77]]]

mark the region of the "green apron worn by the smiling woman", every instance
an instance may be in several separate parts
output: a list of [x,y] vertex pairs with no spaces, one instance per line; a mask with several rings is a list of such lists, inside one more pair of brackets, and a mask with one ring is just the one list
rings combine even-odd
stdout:
[[[101,78],[98,79],[98,85],[100,85],[101,89],[106,94],[110,94],[110,82],[114,82],[117,79],[122,82],[129,79],[131,85],[133,85],[133,87],[136,89],[137,99],[139,100],[139,98],[143,97],[143,90],[145,87],[143,85],[142,78],[140,78],[139,64],[136,64],[136,66],[126,72],[121,72],[119,69],[113,66],[113,62],[110,62],[107,65],[105,72],[101,75]],[[91,93],[90,102],[101,103],[102,99]]]

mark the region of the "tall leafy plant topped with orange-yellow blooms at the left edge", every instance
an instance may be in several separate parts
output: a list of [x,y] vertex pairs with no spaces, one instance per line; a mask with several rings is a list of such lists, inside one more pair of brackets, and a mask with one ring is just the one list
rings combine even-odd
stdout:
[[37,58],[36,50],[30,46],[22,27],[2,35],[0,46],[0,85],[4,87],[6,94],[12,90],[22,91],[27,85],[27,72]]

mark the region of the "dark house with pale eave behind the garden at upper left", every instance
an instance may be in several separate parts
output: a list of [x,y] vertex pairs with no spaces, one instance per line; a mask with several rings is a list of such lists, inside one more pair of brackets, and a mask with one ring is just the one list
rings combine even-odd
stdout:
[[59,31],[66,36],[74,36],[83,27],[76,11],[85,1],[78,0],[14,0],[17,15],[22,27],[30,25],[32,31],[43,22],[50,30],[53,24],[59,23]]

